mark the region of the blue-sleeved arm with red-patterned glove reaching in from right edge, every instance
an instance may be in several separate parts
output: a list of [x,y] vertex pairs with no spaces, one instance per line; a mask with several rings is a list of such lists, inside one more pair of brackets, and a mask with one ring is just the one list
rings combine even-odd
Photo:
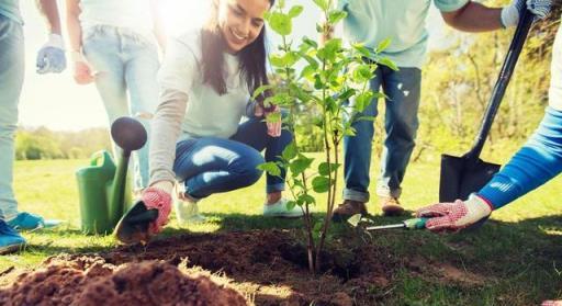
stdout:
[[[558,29],[552,50],[549,106],[537,131],[480,191],[464,201],[423,207],[417,211],[417,216],[429,218],[426,228],[431,231],[459,231],[488,218],[493,211],[541,186],[561,172],[562,24]],[[542,305],[562,305],[562,301],[546,301]]]

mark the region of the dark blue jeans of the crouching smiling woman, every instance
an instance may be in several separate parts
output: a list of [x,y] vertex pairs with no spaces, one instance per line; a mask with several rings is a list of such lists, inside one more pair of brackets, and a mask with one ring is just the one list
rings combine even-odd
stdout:
[[[271,137],[266,123],[250,118],[229,139],[202,137],[178,143],[173,172],[194,199],[245,188],[261,177],[262,171],[257,167],[265,161],[277,161],[292,139],[286,129],[280,137]],[[265,159],[260,154],[263,149]],[[284,170],[280,177],[268,174],[266,192],[283,191],[284,178]]]

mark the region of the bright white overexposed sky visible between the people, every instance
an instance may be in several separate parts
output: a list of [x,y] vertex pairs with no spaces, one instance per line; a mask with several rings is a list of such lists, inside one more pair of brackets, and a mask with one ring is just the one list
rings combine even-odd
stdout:
[[[198,26],[205,16],[206,3],[210,0],[160,0],[162,4],[166,31],[169,35],[181,33]],[[390,1],[390,0],[387,0]],[[38,14],[35,1],[20,1],[25,20],[25,79],[20,99],[20,125],[25,127],[46,126],[54,131],[79,131],[89,127],[109,126],[102,101],[94,84],[78,86],[72,79],[71,63],[60,75],[37,75],[35,72],[36,52],[47,37],[44,21]],[[316,37],[315,23],[318,12],[313,8],[312,0],[289,0],[305,7],[303,14],[293,25],[297,36]],[[59,0],[59,9],[64,1]],[[440,18],[435,9],[431,10],[429,30],[430,46],[438,45],[442,29]],[[64,25],[64,22],[63,22]],[[63,30],[66,34],[66,30]],[[66,39],[68,41],[68,39]],[[273,43],[276,38],[273,37]]]

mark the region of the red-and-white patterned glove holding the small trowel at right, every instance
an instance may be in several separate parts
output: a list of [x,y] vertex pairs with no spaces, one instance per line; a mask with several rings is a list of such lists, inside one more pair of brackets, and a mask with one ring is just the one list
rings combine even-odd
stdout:
[[493,206],[484,199],[471,194],[469,200],[438,203],[416,212],[417,217],[429,218],[426,228],[431,231],[459,231],[490,216]]

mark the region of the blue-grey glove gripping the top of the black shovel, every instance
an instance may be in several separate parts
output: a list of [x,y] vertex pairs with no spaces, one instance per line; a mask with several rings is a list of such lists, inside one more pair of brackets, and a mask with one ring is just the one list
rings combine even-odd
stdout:
[[535,14],[535,21],[546,19],[552,10],[552,0],[513,0],[509,5],[502,9],[504,27],[517,25],[519,14],[525,8]]

